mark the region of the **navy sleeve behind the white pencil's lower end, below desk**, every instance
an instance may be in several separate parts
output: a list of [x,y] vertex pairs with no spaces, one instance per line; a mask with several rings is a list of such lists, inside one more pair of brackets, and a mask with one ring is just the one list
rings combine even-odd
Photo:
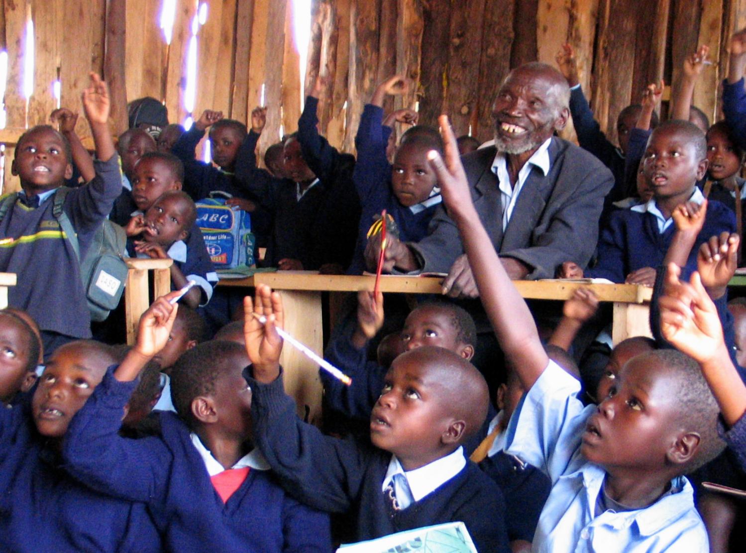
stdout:
[[[350,326],[350,330],[354,331],[354,327]],[[327,371],[319,371],[329,406],[347,416],[369,419],[383,389],[386,369],[375,361],[369,361],[365,348],[355,349],[349,333],[336,337],[327,347],[325,357],[352,378],[352,384],[345,386]]]

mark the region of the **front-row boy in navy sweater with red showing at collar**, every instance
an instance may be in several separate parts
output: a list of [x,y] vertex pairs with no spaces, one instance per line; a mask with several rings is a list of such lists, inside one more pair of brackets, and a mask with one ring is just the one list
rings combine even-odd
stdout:
[[160,413],[156,437],[117,434],[137,375],[169,337],[175,295],[142,316],[137,345],[75,418],[63,452],[70,472],[101,493],[146,502],[171,551],[329,551],[327,516],[289,499],[251,451],[241,346],[212,342],[186,352],[172,373],[179,415]]

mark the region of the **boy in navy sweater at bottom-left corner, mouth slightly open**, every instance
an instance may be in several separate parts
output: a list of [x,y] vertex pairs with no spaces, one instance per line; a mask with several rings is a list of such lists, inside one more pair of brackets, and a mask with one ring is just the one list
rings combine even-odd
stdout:
[[63,469],[70,419],[112,363],[101,343],[68,343],[52,355],[33,399],[0,408],[2,551],[161,551],[145,504],[103,496]]

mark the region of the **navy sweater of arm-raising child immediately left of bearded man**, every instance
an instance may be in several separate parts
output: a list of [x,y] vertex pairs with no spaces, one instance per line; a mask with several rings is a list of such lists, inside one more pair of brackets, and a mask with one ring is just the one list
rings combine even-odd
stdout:
[[382,210],[391,215],[398,227],[399,240],[419,242],[427,236],[430,219],[440,204],[440,195],[420,204],[404,207],[391,188],[391,164],[386,159],[386,143],[391,128],[383,126],[383,108],[366,104],[360,116],[355,147],[357,163],[352,180],[360,198],[360,224],[357,226],[357,242],[348,269],[350,275],[360,275],[366,270],[364,253],[368,243],[368,229]]

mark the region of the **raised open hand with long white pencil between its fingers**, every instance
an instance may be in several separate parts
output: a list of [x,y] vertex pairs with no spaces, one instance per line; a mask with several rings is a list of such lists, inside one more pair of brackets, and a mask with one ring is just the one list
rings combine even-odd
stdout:
[[[283,326],[283,307],[280,294],[272,292],[266,284],[257,286],[254,300],[243,299],[243,335],[246,353],[254,364],[254,377],[260,381],[273,381],[279,372],[282,339],[275,327]],[[260,322],[260,317],[266,319]]]

